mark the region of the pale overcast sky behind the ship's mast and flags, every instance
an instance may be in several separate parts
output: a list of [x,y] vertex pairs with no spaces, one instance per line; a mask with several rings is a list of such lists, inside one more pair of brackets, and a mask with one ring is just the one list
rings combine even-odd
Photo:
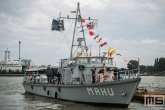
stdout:
[[[80,2],[82,18],[98,19],[102,41],[122,57],[114,55],[119,68],[126,68],[127,60],[140,58],[141,65],[154,65],[155,58],[165,57],[165,1],[164,0],[0,0],[0,60],[7,48],[11,60],[31,59],[36,65],[58,65],[61,58],[69,58],[73,36],[73,20],[64,20],[65,32],[51,31],[52,19],[59,13],[75,17]],[[76,36],[79,36],[79,30]],[[92,55],[98,55],[99,44],[85,31]]]

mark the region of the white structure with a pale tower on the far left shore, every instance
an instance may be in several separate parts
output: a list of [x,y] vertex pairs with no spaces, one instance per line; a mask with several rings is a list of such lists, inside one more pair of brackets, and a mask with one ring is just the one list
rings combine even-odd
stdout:
[[21,72],[22,71],[22,63],[19,62],[18,60],[11,61],[10,60],[10,51],[8,51],[8,48],[7,48],[7,51],[5,51],[4,61],[0,62],[0,69],[6,70],[7,72],[9,70]]

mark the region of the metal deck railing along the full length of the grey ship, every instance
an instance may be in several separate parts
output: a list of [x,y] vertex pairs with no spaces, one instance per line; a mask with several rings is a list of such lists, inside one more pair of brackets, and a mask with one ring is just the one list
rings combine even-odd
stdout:
[[[115,75],[114,75],[115,74]],[[106,75],[106,77],[105,77]],[[123,81],[123,80],[131,80],[140,77],[140,70],[139,69],[133,69],[133,70],[127,70],[127,71],[120,71],[116,73],[105,73],[103,75],[103,82],[113,82],[113,81]],[[86,75],[82,77],[65,77],[60,78],[60,84],[92,84],[92,75]],[[101,83],[99,74],[95,74],[95,83]],[[24,78],[24,83],[34,83],[34,84],[58,84],[58,78],[50,79],[50,82],[48,82],[47,78],[43,77],[36,77],[36,78]]]

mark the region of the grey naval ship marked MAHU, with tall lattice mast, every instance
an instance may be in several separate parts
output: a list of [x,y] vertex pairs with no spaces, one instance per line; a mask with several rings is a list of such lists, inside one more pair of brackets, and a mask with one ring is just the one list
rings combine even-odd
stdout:
[[[49,84],[46,77],[35,77],[28,81],[25,75],[22,83],[25,92],[62,100],[127,107],[140,83],[140,69],[120,71],[120,75],[117,72],[114,78],[113,58],[107,58],[106,53],[104,55],[99,53],[96,56],[88,54],[84,32],[83,37],[77,38],[78,44],[74,44],[77,22],[81,24],[82,29],[84,28],[79,6],[78,3],[75,18],[66,17],[75,19],[75,26],[70,55],[68,58],[60,59],[59,62],[60,84],[57,84],[58,78],[54,79],[55,83]],[[90,18],[84,20],[94,21]],[[55,28],[59,31],[64,30],[63,25],[59,27]],[[80,49],[76,55],[73,54],[74,47]],[[92,74],[94,69],[95,74]],[[100,69],[104,70],[102,76],[98,74]],[[27,72],[28,70],[25,74]]]

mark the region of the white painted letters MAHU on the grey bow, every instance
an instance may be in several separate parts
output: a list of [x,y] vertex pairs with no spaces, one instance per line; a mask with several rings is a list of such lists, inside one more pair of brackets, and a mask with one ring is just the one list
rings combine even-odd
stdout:
[[112,88],[91,88],[87,87],[88,95],[114,96]]

